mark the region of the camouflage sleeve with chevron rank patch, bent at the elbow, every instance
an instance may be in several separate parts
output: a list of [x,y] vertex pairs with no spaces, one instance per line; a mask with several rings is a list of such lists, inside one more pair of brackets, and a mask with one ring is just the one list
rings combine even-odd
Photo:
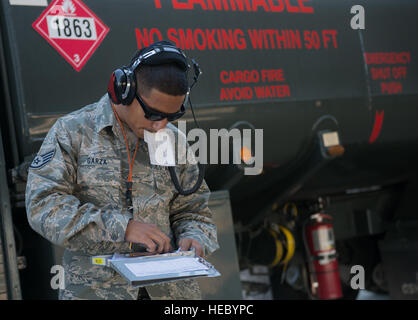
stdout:
[[29,169],[25,202],[30,226],[52,243],[81,252],[99,242],[124,242],[129,212],[81,204],[72,195],[77,181],[73,145],[59,119]]

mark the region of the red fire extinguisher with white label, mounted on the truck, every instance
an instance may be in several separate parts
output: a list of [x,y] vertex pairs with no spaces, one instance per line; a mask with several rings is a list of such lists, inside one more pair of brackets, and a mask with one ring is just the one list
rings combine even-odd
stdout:
[[316,299],[342,297],[332,217],[316,213],[305,224],[305,247],[309,260],[311,294]]

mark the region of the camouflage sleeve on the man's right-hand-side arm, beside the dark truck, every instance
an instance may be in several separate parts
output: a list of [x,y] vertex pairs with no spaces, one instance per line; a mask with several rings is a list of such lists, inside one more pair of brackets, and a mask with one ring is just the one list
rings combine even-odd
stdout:
[[[186,165],[181,172],[179,182],[187,190],[194,186],[198,176],[197,165]],[[212,220],[212,212],[208,208],[209,195],[209,188],[203,181],[198,191],[188,196],[178,194],[170,206],[170,222],[177,245],[182,238],[198,240],[206,256],[219,248],[216,226]]]

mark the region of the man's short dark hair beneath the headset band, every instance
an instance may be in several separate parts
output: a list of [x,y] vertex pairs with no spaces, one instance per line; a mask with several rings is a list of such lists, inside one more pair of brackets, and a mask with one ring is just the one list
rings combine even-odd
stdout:
[[135,70],[137,92],[148,96],[151,89],[157,89],[173,96],[185,95],[189,90],[186,73],[175,63],[143,65]]

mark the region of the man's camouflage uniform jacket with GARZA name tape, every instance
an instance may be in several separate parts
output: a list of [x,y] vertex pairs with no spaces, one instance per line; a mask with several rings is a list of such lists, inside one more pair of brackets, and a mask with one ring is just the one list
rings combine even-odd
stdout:
[[[177,128],[167,126],[174,131]],[[125,126],[130,153],[137,138]],[[150,164],[147,144],[133,166],[132,204],[127,203],[128,156],[122,131],[107,95],[56,121],[29,169],[26,210],[31,227],[66,248],[61,299],[136,299],[138,289],[109,267],[91,264],[92,255],[131,252],[125,231],[131,218],[157,225],[173,248],[181,238],[200,242],[208,255],[218,248],[205,182],[189,196],[179,195],[166,167]],[[183,188],[198,176],[196,165],[178,165]],[[129,206],[133,206],[133,213]],[[199,299],[195,280],[147,287],[152,299]]]

